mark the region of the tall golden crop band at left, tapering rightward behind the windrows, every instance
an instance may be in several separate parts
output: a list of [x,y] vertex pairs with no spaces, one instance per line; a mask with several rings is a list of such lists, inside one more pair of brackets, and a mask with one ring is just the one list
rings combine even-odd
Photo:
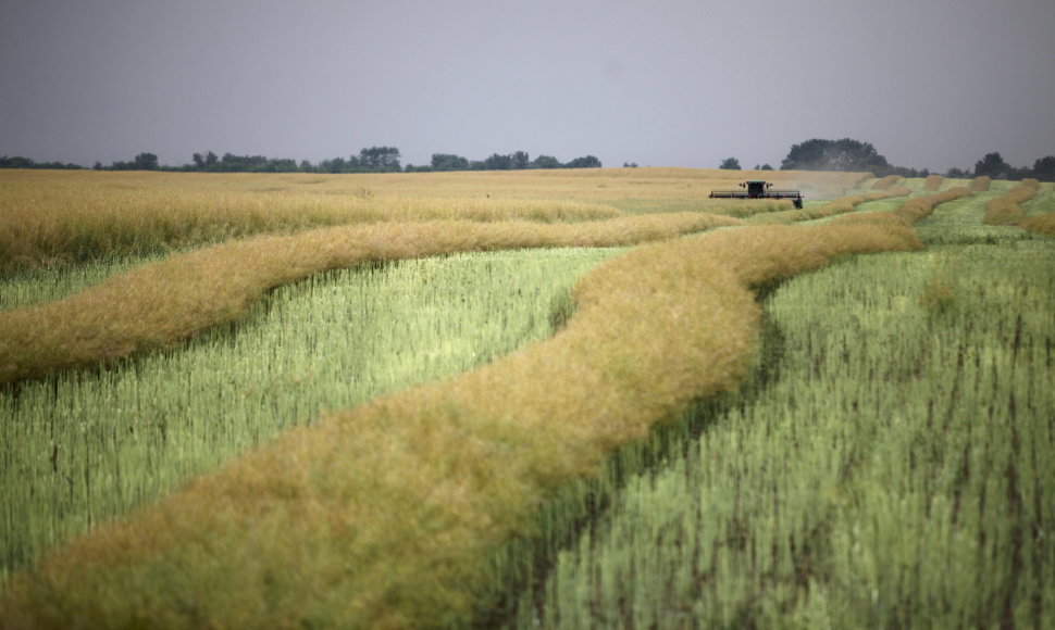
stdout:
[[435,219],[556,223],[623,215],[610,205],[573,200],[384,198],[365,188],[359,193],[326,194],[71,184],[61,179],[4,182],[0,274],[320,226]]

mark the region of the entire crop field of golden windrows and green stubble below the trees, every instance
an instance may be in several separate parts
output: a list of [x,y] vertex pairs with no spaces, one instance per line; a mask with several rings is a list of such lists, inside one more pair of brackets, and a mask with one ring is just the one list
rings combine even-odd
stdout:
[[0,172],[0,627],[1055,627],[1053,217]]

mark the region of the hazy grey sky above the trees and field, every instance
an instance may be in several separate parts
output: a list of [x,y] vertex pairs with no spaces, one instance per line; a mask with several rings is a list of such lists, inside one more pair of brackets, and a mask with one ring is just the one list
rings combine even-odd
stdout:
[[0,155],[1055,154],[1053,0],[0,0]]

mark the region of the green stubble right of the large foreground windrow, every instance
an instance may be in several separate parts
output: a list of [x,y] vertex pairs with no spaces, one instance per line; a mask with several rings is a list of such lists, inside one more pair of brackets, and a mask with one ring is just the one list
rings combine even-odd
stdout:
[[507,621],[1055,625],[1055,242],[980,197],[920,223],[944,244],[783,284],[754,381],[617,459]]

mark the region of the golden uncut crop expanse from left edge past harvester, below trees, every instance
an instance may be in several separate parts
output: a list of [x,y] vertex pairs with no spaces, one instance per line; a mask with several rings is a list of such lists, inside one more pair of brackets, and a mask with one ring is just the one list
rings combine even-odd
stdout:
[[[713,188],[765,176],[835,197],[867,174],[601,168],[364,175],[0,172],[0,274],[353,223],[579,222],[735,213]],[[767,207],[766,210],[774,210]]]

